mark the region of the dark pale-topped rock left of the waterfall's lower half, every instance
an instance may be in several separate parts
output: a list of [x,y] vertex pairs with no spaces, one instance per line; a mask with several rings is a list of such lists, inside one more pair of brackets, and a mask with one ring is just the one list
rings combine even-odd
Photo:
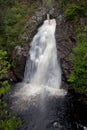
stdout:
[[12,59],[13,59],[12,70],[16,79],[19,81],[23,80],[26,58],[28,56],[28,50],[29,47],[27,45],[23,47],[16,46],[12,54]]

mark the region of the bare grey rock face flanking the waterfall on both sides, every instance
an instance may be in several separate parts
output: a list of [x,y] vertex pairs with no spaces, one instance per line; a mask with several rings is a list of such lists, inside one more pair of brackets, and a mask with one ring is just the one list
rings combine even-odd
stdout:
[[[31,19],[26,23],[24,27],[24,34],[22,35],[22,39],[27,41],[32,40],[34,34],[38,26],[43,23],[47,14],[47,10],[44,7],[38,7],[35,14]],[[57,50],[58,50],[58,59],[60,59],[60,64],[62,68],[62,83],[68,78],[71,70],[72,70],[72,62],[70,60],[70,53],[72,51],[72,47],[74,45],[75,39],[73,38],[72,27],[65,22],[63,14],[60,12],[58,7],[54,7],[50,10],[50,14],[57,21],[56,28],[56,42],[57,42]],[[16,46],[13,51],[13,57],[17,58],[16,66],[13,65],[14,74],[16,75],[18,80],[23,80],[24,68],[26,63],[26,57],[28,56],[29,46]],[[14,64],[15,64],[15,58]],[[65,83],[64,83],[65,85]]]

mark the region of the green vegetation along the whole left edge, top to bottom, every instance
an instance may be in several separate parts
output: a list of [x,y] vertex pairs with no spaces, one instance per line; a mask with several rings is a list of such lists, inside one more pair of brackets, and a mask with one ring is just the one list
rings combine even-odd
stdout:
[[11,53],[16,45],[25,44],[21,40],[23,26],[32,16],[36,2],[18,0],[0,1],[0,129],[15,130],[21,119],[8,112],[8,104],[3,97],[9,92],[10,84],[6,80],[12,66]]

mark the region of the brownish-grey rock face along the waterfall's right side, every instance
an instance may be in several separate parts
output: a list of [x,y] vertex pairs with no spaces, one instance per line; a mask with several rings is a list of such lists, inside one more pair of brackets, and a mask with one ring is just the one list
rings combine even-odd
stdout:
[[75,39],[73,38],[72,26],[66,23],[62,14],[57,14],[56,21],[56,42],[58,58],[60,59],[62,69],[62,86],[67,87],[66,81],[73,67],[70,54],[72,52]]

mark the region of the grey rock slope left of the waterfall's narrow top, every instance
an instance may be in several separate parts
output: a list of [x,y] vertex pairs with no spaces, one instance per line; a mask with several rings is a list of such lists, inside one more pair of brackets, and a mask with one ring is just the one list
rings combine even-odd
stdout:
[[37,26],[42,23],[47,13],[46,8],[38,7],[35,14],[27,21],[24,27],[24,33],[22,39],[25,41],[30,41],[37,30]]

